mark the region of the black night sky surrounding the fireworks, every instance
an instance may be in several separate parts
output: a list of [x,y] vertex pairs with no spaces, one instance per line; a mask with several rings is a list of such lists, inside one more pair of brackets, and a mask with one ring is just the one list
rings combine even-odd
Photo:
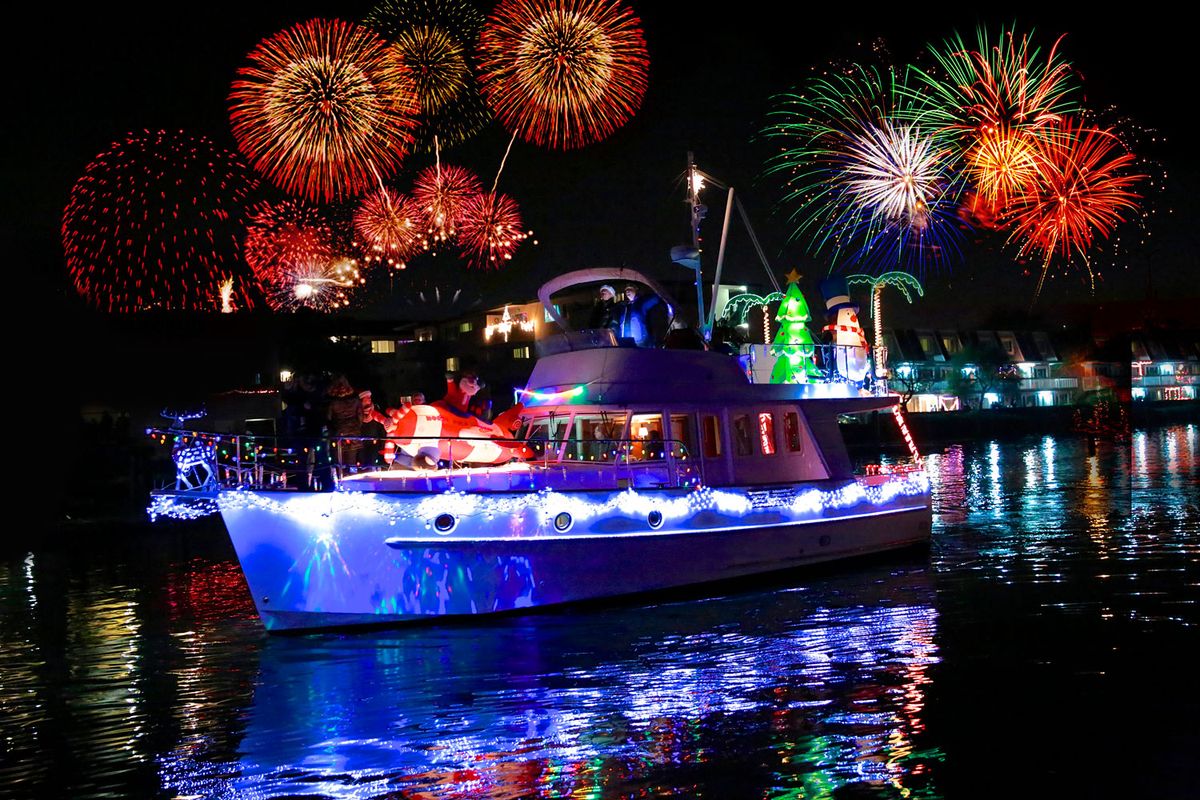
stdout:
[[[689,235],[676,179],[691,150],[702,169],[742,192],[775,273],[797,267],[810,301],[816,300],[816,281],[826,266],[799,245],[787,243],[782,217],[772,213],[778,190],[758,179],[768,145],[755,134],[772,95],[833,59],[858,59],[877,38],[904,64],[922,56],[928,42],[941,42],[955,30],[973,36],[979,22],[995,30],[1015,20],[1021,30],[1034,28],[1045,47],[1067,34],[1062,53],[1080,73],[1088,106],[1117,104],[1166,139],[1153,154],[1170,176],[1168,192],[1156,200],[1163,212],[1153,223],[1154,245],[1127,259],[1127,269],[1106,269],[1094,299],[1138,300],[1147,290],[1157,297],[1196,296],[1198,170],[1188,96],[1195,42],[1182,18],[1134,16],[1132,5],[1111,18],[1090,16],[1079,4],[1057,4],[1049,11],[1006,5],[1003,16],[991,17],[980,17],[971,4],[942,12],[928,4],[896,4],[882,12],[866,5],[811,11],[808,4],[788,4],[791,10],[770,13],[744,11],[764,4],[707,11],[698,4],[632,5],[643,19],[650,54],[650,86],[638,115],[584,150],[548,151],[518,142],[509,157],[500,191],[521,203],[540,243],[523,247],[500,279],[468,272],[444,257],[437,272],[414,264],[418,277],[436,275],[443,285],[478,287],[485,300],[496,302],[529,297],[547,277],[584,266],[628,265],[660,278],[683,277],[667,252]],[[358,20],[370,8],[368,2],[210,2],[148,11],[108,4],[10,30],[11,38],[22,41],[14,62],[19,68],[10,73],[17,77],[18,103],[6,125],[7,136],[16,139],[6,148],[6,221],[31,281],[29,307],[48,313],[47,341],[78,335],[56,320],[89,317],[66,277],[59,237],[68,192],[89,161],[126,132],[142,128],[185,128],[234,149],[227,98],[245,55],[296,22],[316,16]],[[444,158],[474,168],[490,184],[506,143],[508,134],[493,122]],[[427,163],[427,156],[416,157],[412,172]],[[412,172],[397,184],[406,186]],[[718,192],[706,199],[712,207],[704,229],[710,275],[724,199]],[[914,318],[937,314],[946,323],[968,325],[997,303],[1028,305],[1036,275],[1021,273],[1001,236],[985,239],[979,246],[968,243],[953,270],[924,276],[930,295],[911,309]],[[736,221],[727,259],[727,282],[762,283],[762,269]],[[1091,301],[1086,282],[1075,277],[1049,284],[1038,307],[1052,313],[1063,302]],[[894,308],[898,323],[908,321],[908,309],[899,303]]]

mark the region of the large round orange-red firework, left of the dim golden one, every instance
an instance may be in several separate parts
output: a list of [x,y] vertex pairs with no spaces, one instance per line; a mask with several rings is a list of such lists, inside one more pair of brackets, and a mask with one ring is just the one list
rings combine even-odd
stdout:
[[264,40],[229,96],[238,148],[286,192],[353,197],[391,175],[412,143],[407,70],[366,28],[312,19]]

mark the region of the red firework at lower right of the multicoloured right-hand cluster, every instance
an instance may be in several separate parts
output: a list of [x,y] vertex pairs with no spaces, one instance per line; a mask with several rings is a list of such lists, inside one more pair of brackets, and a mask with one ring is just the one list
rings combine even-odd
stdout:
[[1142,175],[1124,172],[1134,156],[1111,132],[1066,120],[1039,137],[1036,158],[1037,180],[1013,203],[1009,241],[1021,242],[1021,255],[1042,257],[1038,293],[1055,255],[1069,263],[1079,254],[1094,288],[1088,249],[1138,212],[1133,186]]

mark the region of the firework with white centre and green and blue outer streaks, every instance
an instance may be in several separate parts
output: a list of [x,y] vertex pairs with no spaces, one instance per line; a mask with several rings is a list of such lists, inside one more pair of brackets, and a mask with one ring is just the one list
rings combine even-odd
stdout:
[[786,95],[768,138],[767,173],[787,179],[793,237],[868,269],[937,264],[956,249],[956,151],[923,128],[890,71],[854,67]]

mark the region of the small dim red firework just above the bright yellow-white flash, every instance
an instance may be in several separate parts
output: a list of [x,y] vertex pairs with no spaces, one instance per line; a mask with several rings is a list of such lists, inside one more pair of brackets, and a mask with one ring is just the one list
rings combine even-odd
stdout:
[[334,254],[334,228],[311,205],[262,203],[247,215],[246,263],[264,284],[286,283],[298,267],[328,264]]

